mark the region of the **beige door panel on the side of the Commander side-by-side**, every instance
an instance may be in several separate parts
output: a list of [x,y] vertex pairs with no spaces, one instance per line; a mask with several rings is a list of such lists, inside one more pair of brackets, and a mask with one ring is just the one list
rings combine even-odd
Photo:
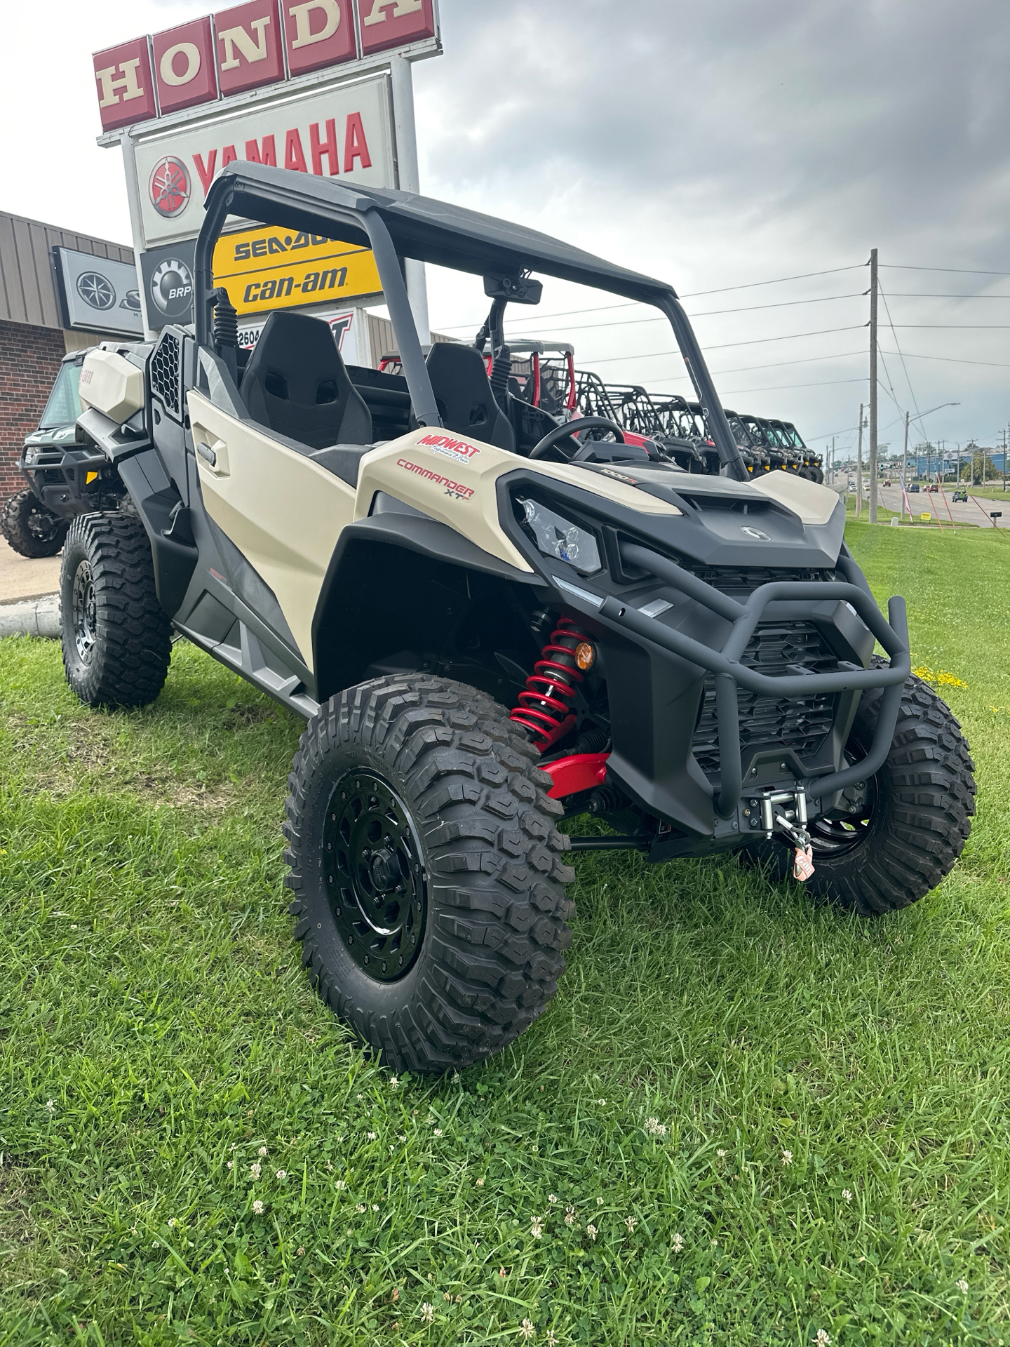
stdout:
[[277,595],[312,672],[312,617],[354,489],[259,426],[189,399],[197,470],[207,515]]

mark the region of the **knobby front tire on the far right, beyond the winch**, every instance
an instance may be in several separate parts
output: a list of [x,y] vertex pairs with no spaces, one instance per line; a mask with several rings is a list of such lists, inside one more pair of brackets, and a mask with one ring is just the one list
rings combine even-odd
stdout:
[[[875,665],[883,660],[874,657]],[[852,761],[869,749],[882,692],[863,694],[847,745]],[[866,804],[843,822],[815,820],[813,876],[805,888],[861,916],[905,908],[935,889],[953,867],[975,814],[975,764],[949,706],[912,675],[890,753],[870,783]],[[777,880],[792,873],[792,847],[777,839],[747,849],[743,859]]]

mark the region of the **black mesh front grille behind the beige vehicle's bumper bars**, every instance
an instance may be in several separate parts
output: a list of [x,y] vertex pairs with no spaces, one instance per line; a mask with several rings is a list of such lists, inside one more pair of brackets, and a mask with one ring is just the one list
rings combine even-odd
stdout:
[[[683,564],[683,563],[681,563]],[[834,581],[828,570],[734,570],[733,567],[689,567],[710,585],[734,598],[746,598],[758,585],[772,581]],[[838,668],[838,657],[813,622],[758,622],[741,660],[749,668],[772,678],[796,674],[800,668],[823,674]],[[743,758],[760,749],[793,749],[800,757],[816,753],[831,731],[835,694],[815,692],[803,698],[761,696],[737,688],[741,750]],[[710,780],[719,775],[719,733],[715,718],[715,678],[706,675],[702,715],[694,737],[694,753]]]

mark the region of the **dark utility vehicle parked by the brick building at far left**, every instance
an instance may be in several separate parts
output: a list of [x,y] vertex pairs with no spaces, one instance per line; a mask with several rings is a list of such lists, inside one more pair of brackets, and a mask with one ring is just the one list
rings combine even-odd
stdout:
[[55,556],[78,515],[114,506],[123,496],[108,458],[77,426],[86,354],[75,350],[61,361],[39,427],[18,459],[28,485],[0,506],[0,533],[22,556]]

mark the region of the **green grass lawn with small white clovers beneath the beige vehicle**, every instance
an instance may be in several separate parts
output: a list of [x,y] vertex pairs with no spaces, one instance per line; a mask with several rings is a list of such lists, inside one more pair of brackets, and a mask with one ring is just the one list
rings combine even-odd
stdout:
[[582,857],[558,998],[439,1080],[300,970],[299,723],[186,644],[106,715],[0,641],[0,1344],[1010,1343],[1006,541],[850,539],[971,741],[962,863],[865,923]]

